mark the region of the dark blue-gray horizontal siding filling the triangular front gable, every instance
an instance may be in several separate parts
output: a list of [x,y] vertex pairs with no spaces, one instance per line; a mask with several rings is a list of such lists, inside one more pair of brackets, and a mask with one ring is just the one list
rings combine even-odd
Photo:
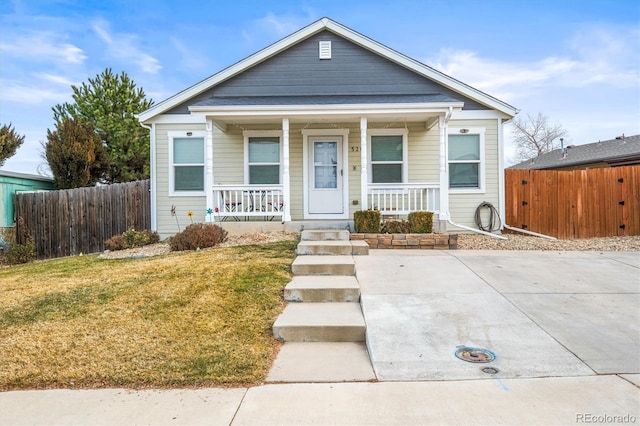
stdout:
[[[318,42],[332,42],[332,59],[318,58]],[[245,70],[172,109],[221,96],[414,95],[441,94],[464,102],[464,109],[488,109],[401,65],[342,37],[323,31]]]

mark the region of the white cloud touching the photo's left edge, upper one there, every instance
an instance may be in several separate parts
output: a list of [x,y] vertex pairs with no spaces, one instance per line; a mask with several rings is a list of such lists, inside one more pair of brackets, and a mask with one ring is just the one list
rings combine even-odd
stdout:
[[35,62],[80,64],[87,59],[81,48],[65,43],[53,32],[25,34],[15,39],[5,36],[0,42],[0,50],[16,58]]

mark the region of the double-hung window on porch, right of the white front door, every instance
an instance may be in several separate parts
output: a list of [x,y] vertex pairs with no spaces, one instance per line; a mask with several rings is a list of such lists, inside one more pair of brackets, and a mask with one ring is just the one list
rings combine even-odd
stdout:
[[371,183],[402,183],[407,180],[407,132],[385,129],[369,131]]

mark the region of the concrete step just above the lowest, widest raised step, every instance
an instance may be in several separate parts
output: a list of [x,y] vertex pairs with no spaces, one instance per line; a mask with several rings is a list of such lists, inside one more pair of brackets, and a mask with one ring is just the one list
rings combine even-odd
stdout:
[[298,276],[284,288],[287,302],[359,302],[360,285],[350,276]]

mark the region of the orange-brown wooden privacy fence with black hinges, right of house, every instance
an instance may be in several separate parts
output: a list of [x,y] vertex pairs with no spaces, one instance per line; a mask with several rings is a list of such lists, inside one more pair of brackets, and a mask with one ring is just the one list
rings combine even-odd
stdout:
[[561,239],[640,235],[640,166],[505,170],[505,223]]

